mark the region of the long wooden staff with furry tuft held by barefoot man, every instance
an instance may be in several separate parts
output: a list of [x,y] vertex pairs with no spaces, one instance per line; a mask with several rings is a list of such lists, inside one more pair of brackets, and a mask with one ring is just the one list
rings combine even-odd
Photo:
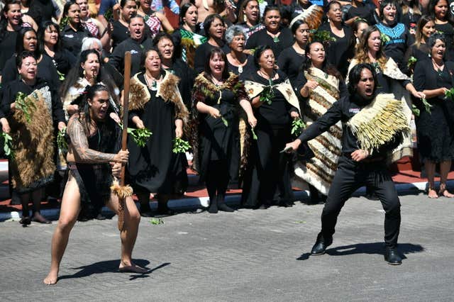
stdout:
[[[127,149],[128,142],[128,113],[129,113],[129,81],[131,79],[131,52],[125,52],[125,68],[123,80],[123,130],[121,133],[121,150]],[[124,207],[128,196],[133,195],[131,186],[125,186],[126,164],[121,164],[120,183],[115,181],[111,190],[118,196],[118,230],[123,230]]]

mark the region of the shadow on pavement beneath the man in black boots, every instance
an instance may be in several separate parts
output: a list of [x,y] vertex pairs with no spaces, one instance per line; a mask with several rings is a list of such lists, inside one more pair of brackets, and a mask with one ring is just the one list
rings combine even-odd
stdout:
[[[415,252],[423,252],[424,248],[421,245],[414,245],[411,243],[399,243],[397,247],[399,253],[402,255],[402,259],[406,259],[406,254],[412,254]],[[373,242],[373,243],[359,243],[356,245],[343,245],[341,247],[331,247],[326,249],[326,254],[331,256],[343,256],[343,255],[355,255],[355,254],[377,254],[383,255],[384,243]],[[310,252],[306,252],[299,256],[297,260],[309,259]]]

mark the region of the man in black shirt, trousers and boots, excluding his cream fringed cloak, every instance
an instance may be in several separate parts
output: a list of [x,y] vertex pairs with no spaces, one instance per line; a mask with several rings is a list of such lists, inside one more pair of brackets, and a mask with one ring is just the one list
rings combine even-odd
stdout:
[[323,116],[304,130],[297,140],[288,143],[286,149],[297,150],[301,142],[316,138],[331,125],[342,121],[342,155],[321,214],[321,232],[312,247],[311,255],[325,253],[326,247],[333,242],[334,228],[345,201],[360,186],[367,185],[375,190],[385,211],[384,259],[389,264],[399,265],[402,264],[402,258],[397,252],[401,221],[400,202],[394,182],[386,168],[386,155],[387,151],[397,147],[399,143],[397,138],[402,136],[402,131],[396,130],[392,139],[369,152],[365,147],[358,147],[364,145],[364,141],[355,136],[351,124],[349,125],[356,114],[365,106],[372,104],[375,98],[375,83],[376,75],[371,65],[360,64],[353,67],[349,74],[350,96],[345,96],[334,103]]

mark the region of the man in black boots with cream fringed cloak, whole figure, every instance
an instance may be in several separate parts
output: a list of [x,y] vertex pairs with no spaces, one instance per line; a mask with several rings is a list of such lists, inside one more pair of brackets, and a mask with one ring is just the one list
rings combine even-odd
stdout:
[[360,186],[375,190],[385,211],[384,260],[388,264],[402,264],[397,252],[400,228],[400,202],[394,182],[387,170],[387,155],[402,141],[402,134],[409,131],[402,105],[392,94],[375,96],[376,74],[369,64],[353,67],[348,75],[350,96],[338,100],[315,123],[310,125],[297,140],[287,144],[288,152],[297,150],[331,125],[342,121],[342,155],[338,170],[331,184],[323,212],[321,232],[312,247],[311,255],[323,255],[333,242],[334,228],[341,208]]

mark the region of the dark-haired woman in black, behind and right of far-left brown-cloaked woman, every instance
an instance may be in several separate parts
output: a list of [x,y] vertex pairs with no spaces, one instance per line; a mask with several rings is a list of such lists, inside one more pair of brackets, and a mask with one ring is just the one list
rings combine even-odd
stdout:
[[57,68],[60,81],[64,80],[77,59],[61,46],[60,28],[52,21],[45,21],[38,30],[38,47],[43,55],[50,57]]

